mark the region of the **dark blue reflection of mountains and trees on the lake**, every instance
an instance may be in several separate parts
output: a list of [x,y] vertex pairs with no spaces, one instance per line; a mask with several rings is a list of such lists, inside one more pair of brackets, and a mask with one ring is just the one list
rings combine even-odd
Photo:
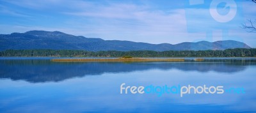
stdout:
[[252,59],[205,59],[196,63],[193,61],[185,63],[54,63],[49,60],[0,60],[0,78],[29,82],[57,82],[84,75],[172,68],[182,71],[235,73],[254,63],[256,61]]

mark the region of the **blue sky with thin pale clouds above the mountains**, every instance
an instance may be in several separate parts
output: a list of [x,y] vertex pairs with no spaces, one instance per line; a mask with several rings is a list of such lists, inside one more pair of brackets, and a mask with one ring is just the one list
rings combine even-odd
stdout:
[[44,30],[147,43],[237,40],[256,47],[256,33],[240,27],[256,19],[256,4],[230,1],[0,0],[0,34]]

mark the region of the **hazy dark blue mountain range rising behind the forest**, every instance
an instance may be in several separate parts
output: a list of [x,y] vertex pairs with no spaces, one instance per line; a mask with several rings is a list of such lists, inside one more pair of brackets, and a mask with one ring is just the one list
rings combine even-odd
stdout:
[[26,33],[0,34],[0,50],[54,49],[54,50],[224,50],[246,48],[246,43],[234,40],[150,44],[134,41],[102,40],[61,33],[59,31],[28,31]]

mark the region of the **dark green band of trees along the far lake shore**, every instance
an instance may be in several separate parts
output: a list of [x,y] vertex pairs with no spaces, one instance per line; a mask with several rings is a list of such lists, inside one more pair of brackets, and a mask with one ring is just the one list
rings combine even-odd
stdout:
[[4,50],[0,57],[256,57],[256,49],[182,50],[182,51],[99,51],[85,50]]

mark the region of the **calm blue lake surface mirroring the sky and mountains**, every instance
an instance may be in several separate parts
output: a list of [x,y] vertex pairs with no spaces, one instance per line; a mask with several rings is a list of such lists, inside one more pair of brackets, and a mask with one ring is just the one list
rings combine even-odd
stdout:
[[[60,63],[0,58],[0,112],[256,112],[256,59]],[[191,58],[193,59],[193,58]],[[223,86],[223,94],[120,94],[125,86]],[[243,88],[244,92],[226,89]]]

